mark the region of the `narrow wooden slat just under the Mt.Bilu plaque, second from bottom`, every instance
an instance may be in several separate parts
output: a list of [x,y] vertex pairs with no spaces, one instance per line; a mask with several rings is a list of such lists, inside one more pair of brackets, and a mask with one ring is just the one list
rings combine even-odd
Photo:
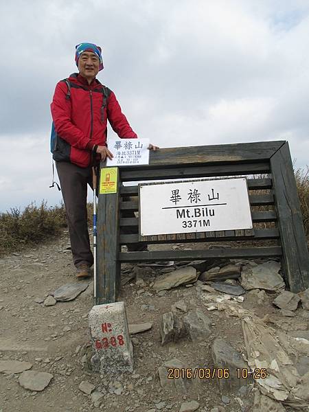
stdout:
[[[204,233],[204,232],[201,232]],[[278,239],[279,238],[279,230],[276,228],[269,228],[269,229],[254,229],[254,236],[250,237],[246,236],[244,231],[235,231],[233,236],[216,236],[216,232],[205,232],[207,242],[218,242],[222,240],[270,240],[270,239]],[[186,238],[183,239],[183,242],[205,242],[205,238],[196,238],[195,233],[185,233]],[[194,236],[193,236],[194,235]],[[134,235],[120,235],[120,243],[121,244],[130,244],[130,243],[137,243],[141,240],[146,240],[148,243],[179,243],[179,238],[176,235],[167,235],[167,240],[163,240],[160,238],[161,235],[152,236],[152,240],[148,240],[150,236],[140,236],[138,234]]]

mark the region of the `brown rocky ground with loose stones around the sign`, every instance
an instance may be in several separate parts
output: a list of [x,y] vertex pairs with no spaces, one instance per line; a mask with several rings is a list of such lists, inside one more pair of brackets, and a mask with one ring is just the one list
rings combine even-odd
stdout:
[[282,293],[279,262],[123,265],[135,370],[116,376],[91,370],[93,284],[54,293],[76,282],[67,233],[0,268],[0,412],[308,410],[309,294]]

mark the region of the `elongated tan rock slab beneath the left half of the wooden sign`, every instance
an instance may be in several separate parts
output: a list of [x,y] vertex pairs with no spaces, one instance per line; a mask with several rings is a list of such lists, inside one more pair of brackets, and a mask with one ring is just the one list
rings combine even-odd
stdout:
[[185,268],[177,269],[170,273],[160,276],[153,285],[155,290],[165,290],[176,288],[181,284],[188,284],[195,282],[196,269],[192,266],[186,266]]

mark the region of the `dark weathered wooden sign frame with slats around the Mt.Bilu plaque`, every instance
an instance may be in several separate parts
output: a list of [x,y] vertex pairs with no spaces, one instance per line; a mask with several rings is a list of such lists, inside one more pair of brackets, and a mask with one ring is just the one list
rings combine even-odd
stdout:
[[[103,165],[102,165],[103,167]],[[255,177],[266,174],[266,177]],[[123,182],[249,176],[254,231],[144,236],[138,233],[138,186]],[[263,210],[256,210],[258,207]],[[263,227],[261,227],[263,226]],[[192,251],[123,251],[122,246],[187,242],[249,242],[249,247]],[[254,241],[254,245],[252,242]],[[275,243],[275,244],[273,244]],[[150,152],[149,165],[119,168],[117,193],[98,199],[97,304],[116,301],[124,262],[280,258],[288,288],[309,287],[309,254],[287,141],[166,148]]]

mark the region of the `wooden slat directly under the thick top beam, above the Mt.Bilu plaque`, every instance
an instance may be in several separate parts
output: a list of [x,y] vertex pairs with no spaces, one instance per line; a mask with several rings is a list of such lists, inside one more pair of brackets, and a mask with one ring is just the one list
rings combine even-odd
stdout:
[[192,167],[152,169],[119,168],[121,181],[142,181],[157,179],[193,179],[211,176],[239,176],[242,174],[260,174],[271,171],[269,162],[262,163],[232,163],[222,165],[201,165]]

